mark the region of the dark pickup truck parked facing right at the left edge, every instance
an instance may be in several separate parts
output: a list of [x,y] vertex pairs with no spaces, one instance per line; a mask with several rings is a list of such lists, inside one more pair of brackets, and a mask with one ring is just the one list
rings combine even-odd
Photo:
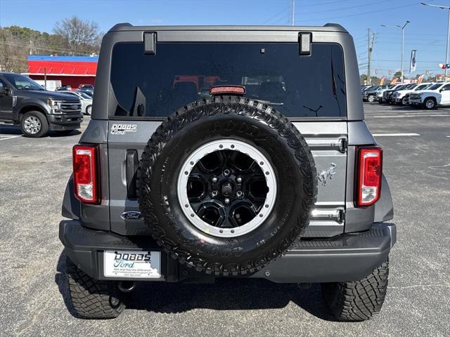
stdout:
[[78,98],[46,91],[29,77],[0,72],[0,121],[18,124],[27,137],[70,133],[83,121]]

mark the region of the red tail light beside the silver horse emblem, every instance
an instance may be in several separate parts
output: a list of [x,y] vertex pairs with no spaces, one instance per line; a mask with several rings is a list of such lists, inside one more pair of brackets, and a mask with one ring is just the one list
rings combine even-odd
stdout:
[[358,150],[356,206],[371,206],[380,198],[383,150],[364,147]]

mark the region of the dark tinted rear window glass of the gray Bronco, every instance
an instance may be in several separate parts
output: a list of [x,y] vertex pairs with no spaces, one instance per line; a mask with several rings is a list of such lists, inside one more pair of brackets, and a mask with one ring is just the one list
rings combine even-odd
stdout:
[[346,115],[345,72],[338,44],[312,44],[300,56],[295,43],[142,43],[113,49],[115,117],[167,117],[211,86],[245,86],[246,96],[270,103],[286,117]]

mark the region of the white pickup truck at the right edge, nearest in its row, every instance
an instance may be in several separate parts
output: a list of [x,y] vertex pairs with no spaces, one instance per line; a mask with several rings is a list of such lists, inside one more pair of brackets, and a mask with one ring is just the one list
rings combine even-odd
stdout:
[[437,105],[450,105],[450,82],[437,83],[430,88],[409,95],[409,104],[432,110]]

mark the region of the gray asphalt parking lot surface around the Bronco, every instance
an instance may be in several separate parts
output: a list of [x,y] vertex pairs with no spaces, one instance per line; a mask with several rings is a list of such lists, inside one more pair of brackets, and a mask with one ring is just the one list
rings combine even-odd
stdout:
[[377,318],[333,322],[319,286],[255,280],[140,284],[118,319],[73,317],[58,223],[81,133],[30,139],[0,124],[0,335],[450,336],[450,109],[365,103],[365,112],[384,149],[398,230]]

